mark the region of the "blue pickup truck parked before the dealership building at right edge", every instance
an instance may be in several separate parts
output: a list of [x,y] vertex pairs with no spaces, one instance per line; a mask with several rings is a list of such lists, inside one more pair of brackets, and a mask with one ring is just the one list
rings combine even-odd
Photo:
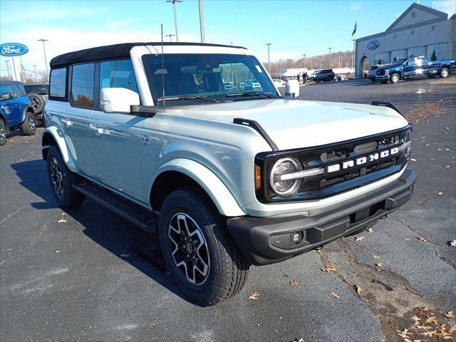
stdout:
[[380,83],[398,83],[400,79],[423,76],[445,78],[456,70],[456,60],[429,61],[426,56],[411,57],[407,61],[394,66],[383,66],[375,71],[375,79]]

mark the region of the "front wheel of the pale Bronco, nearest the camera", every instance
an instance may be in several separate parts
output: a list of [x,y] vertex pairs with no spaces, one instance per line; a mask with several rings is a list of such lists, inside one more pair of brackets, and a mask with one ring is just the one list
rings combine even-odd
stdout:
[[237,294],[249,264],[210,199],[195,187],[171,192],[160,210],[160,246],[190,301],[210,306]]

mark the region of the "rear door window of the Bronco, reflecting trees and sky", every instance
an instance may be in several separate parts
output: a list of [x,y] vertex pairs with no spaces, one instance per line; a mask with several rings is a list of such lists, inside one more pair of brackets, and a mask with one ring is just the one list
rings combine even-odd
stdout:
[[73,66],[71,78],[71,104],[93,108],[95,63]]

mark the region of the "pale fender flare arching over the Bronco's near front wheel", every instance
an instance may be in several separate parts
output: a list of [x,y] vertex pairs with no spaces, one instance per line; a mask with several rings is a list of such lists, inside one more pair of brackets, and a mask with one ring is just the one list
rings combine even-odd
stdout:
[[150,188],[150,206],[153,210],[160,210],[170,192],[192,185],[204,191],[220,214],[227,217],[246,214],[214,172],[199,162],[185,158],[170,160],[160,167]]

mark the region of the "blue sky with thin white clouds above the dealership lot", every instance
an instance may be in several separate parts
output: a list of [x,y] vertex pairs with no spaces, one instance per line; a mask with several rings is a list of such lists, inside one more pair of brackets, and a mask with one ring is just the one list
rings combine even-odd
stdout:
[[[353,48],[355,21],[358,38],[379,33],[417,1],[203,0],[206,42],[245,46],[261,61],[267,61],[266,43],[272,44],[271,61],[328,53],[328,47],[346,51]],[[437,9],[449,14],[456,11],[455,0],[419,2],[437,2]],[[179,40],[199,42],[198,1],[183,0],[176,6]],[[175,34],[172,7],[165,0],[0,0],[0,43],[24,43],[29,48],[21,58],[24,68],[33,71],[36,65],[38,71],[46,70],[37,39],[49,40],[48,62],[82,48],[160,41],[160,24],[165,35]],[[33,19],[27,19],[28,14]],[[0,57],[1,76],[7,74],[5,61]]]

